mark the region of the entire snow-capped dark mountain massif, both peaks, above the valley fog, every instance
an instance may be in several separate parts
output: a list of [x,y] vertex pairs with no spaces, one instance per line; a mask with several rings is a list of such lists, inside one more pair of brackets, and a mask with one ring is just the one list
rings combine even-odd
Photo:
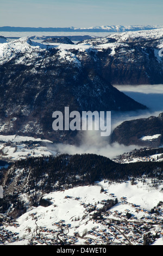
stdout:
[[163,29],[153,29],[78,44],[28,37],[0,44],[1,133],[61,141],[67,135],[54,135],[52,113],[65,106],[79,112],[145,109],[111,84],[161,84],[162,36]]

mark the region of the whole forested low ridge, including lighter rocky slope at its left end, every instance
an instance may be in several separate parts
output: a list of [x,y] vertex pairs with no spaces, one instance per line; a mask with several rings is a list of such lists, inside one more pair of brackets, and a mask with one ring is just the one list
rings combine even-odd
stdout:
[[93,154],[60,155],[17,161],[8,169],[1,170],[1,185],[4,188],[1,212],[7,211],[11,204],[14,205],[14,213],[15,209],[18,214],[26,211],[27,202],[20,199],[20,194],[28,195],[29,205],[38,206],[44,193],[79,185],[91,185],[103,179],[121,182],[128,180],[129,177],[143,179],[145,175],[161,181],[162,169],[163,162],[120,164],[107,157]]

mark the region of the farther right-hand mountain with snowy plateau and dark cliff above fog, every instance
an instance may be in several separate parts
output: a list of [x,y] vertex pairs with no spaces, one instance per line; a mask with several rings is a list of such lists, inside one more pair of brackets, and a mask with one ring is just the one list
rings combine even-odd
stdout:
[[111,84],[161,84],[162,39],[163,29],[154,29],[117,33],[79,44],[90,44],[98,49],[101,75]]

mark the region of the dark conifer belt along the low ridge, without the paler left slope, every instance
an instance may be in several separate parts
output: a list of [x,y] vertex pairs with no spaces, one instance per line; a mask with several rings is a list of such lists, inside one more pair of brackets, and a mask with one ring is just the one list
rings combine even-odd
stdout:
[[[22,180],[29,174],[28,186],[31,189],[40,181],[43,187],[49,192],[51,186],[56,182],[64,185],[87,185],[102,179],[112,181],[126,180],[129,176],[141,177],[148,175],[154,178],[157,176],[162,179],[163,162],[136,162],[136,163],[115,163],[107,157],[95,154],[67,155],[62,154],[57,157],[32,157],[26,160],[20,160],[12,163],[8,169],[2,169],[2,181],[6,173],[8,178],[5,181],[7,185],[11,182],[12,176],[15,176],[17,169],[22,169],[21,179],[18,180],[21,186]],[[2,174],[3,173],[3,174]]]

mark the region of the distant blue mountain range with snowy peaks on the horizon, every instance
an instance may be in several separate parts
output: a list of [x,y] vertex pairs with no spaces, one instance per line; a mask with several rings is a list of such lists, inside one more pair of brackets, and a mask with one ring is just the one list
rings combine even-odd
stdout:
[[77,27],[65,27],[65,28],[35,28],[35,27],[0,27],[0,32],[126,32],[126,31],[143,31],[143,30],[151,30],[163,28],[162,26],[155,25],[147,25],[147,26],[95,26],[88,28],[77,28]]

